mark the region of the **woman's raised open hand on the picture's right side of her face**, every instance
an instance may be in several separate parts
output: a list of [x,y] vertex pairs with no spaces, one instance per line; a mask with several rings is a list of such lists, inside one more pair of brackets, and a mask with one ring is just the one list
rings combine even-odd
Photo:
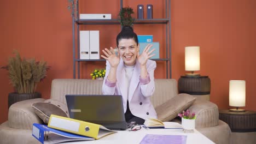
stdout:
[[149,51],[149,49],[150,49],[152,46],[153,46],[153,45],[148,44],[148,45],[145,47],[145,49],[143,50],[143,52],[141,53],[141,55],[139,55],[139,51],[138,51],[138,53],[137,53],[137,59],[138,59],[139,64],[141,64],[141,66],[146,65],[148,59],[149,59],[150,57],[155,56],[155,54],[152,54],[152,55],[151,55],[151,53],[152,53],[155,49]]

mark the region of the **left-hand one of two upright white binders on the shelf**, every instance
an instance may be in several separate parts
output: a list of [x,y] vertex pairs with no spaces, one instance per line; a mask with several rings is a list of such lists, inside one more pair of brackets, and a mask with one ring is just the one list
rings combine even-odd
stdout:
[[90,59],[89,31],[80,31],[80,59]]

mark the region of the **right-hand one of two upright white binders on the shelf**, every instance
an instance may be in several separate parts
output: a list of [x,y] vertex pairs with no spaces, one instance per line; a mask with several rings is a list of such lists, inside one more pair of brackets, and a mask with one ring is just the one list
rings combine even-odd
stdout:
[[90,31],[90,59],[100,59],[100,31]]

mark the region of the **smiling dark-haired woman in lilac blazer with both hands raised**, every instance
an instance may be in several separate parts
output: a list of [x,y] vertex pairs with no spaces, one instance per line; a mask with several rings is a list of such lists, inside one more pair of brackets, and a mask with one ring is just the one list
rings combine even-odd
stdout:
[[117,35],[117,54],[115,50],[102,50],[106,59],[106,75],[102,92],[108,95],[122,95],[126,122],[143,124],[146,118],[157,118],[149,97],[155,91],[154,55],[147,45],[139,55],[138,37],[132,27],[125,26]]

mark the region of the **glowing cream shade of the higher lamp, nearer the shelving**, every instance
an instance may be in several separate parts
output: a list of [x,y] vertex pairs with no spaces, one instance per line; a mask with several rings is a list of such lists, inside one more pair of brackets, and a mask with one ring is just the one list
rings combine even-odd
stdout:
[[200,47],[199,46],[185,47],[185,70],[187,71],[200,70]]

